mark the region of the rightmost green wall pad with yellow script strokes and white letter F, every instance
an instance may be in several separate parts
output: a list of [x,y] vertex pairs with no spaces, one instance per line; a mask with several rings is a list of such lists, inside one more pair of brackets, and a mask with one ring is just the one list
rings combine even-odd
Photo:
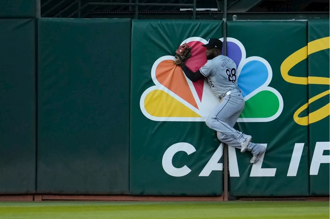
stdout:
[[308,21],[308,42],[310,194],[330,195],[330,20]]

